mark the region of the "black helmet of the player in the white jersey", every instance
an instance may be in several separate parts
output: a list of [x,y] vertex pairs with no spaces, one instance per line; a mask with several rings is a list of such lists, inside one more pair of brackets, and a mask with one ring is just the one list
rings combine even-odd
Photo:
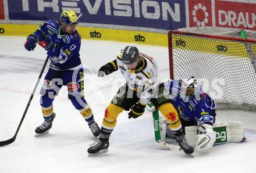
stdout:
[[138,49],[135,46],[126,46],[123,49],[122,62],[126,65],[138,60]]

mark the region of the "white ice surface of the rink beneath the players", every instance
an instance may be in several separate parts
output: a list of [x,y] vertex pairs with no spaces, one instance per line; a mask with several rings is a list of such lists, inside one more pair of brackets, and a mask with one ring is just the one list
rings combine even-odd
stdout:
[[[0,37],[0,140],[10,139],[15,134],[46,58],[46,52],[38,45],[33,52],[26,51],[23,48],[25,40],[25,37]],[[95,74],[99,67],[115,59],[126,45],[134,44],[82,41],[80,54],[85,67],[85,98],[99,125],[105,107],[125,81],[119,71],[103,78]],[[157,60],[163,78],[169,77],[167,48],[136,46],[140,52]],[[41,84],[42,80],[16,141],[0,147],[1,173],[256,172],[254,112],[217,110],[217,122],[244,122],[247,141],[214,146],[208,152],[195,152],[194,157],[189,157],[182,151],[165,150],[155,145],[150,113],[129,120],[127,111],[124,111],[119,115],[111,135],[109,152],[88,157],[88,145],[95,138],[79,111],[67,99],[66,87],[61,89],[54,101],[56,118],[51,131],[47,135],[34,137],[34,129],[43,121],[39,104]]]

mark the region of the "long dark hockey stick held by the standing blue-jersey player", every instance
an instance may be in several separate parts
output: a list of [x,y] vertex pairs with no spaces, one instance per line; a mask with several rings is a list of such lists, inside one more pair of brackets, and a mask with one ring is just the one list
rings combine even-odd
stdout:
[[8,140],[0,141],[0,147],[1,147],[1,146],[5,146],[5,145],[9,145],[10,143],[13,143],[13,142],[15,141],[16,136],[17,136],[17,134],[18,134],[18,132],[19,132],[20,126],[22,125],[22,122],[23,122],[23,120],[24,120],[24,118],[25,118],[25,116],[26,116],[26,114],[27,114],[27,110],[29,109],[30,103],[31,103],[31,101],[32,101],[32,99],[33,99],[35,90],[37,90],[37,85],[38,85],[38,83],[39,83],[39,81],[40,81],[40,78],[42,77],[42,73],[44,73],[44,69],[45,69],[45,66],[46,66],[46,64],[47,64],[47,62],[48,62],[48,59],[49,59],[49,56],[47,56],[47,58],[46,58],[46,60],[45,60],[45,62],[44,62],[44,66],[42,67],[42,70],[41,70],[41,72],[40,72],[40,74],[39,74],[39,77],[38,77],[38,79],[37,79],[37,82],[35,83],[35,87],[34,87],[34,89],[33,89],[33,92],[32,92],[32,94],[31,94],[31,96],[30,96],[29,102],[27,103],[27,107],[26,107],[26,109],[25,109],[25,111],[24,111],[24,113],[23,113],[22,120],[20,120],[20,124],[19,124],[19,126],[18,126],[18,128],[17,128],[17,130],[16,130],[16,132],[15,132],[15,135],[14,135],[12,138],[8,139]]

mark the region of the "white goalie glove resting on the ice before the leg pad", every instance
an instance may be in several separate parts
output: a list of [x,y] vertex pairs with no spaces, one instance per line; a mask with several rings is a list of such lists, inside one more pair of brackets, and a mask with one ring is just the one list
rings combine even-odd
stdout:
[[199,127],[199,131],[202,132],[202,134],[195,136],[195,138],[197,138],[195,149],[206,150],[211,148],[216,140],[216,132],[212,125],[203,124]]

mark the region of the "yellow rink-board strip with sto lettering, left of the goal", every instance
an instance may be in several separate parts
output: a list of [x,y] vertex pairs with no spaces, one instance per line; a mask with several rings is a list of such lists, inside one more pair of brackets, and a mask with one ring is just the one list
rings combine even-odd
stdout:
[[[38,24],[0,24],[0,28],[3,29],[0,35],[27,36],[34,33],[37,27]],[[168,46],[167,34],[92,27],[79,27],[77,30],[83,39]]]

